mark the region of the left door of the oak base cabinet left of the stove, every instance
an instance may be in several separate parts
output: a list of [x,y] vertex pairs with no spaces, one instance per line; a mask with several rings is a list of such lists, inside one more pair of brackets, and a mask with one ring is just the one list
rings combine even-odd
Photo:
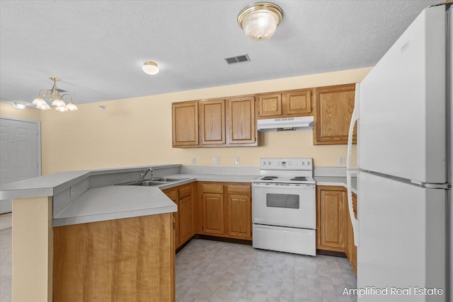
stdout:
[[203,193],[203,226],[204,233],[224,234],[224,197],[223,194]]

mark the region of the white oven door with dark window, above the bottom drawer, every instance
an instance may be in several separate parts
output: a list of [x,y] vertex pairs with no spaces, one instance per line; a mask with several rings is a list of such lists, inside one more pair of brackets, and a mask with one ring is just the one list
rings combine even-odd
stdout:
[[316,228],[315,185],[253,183],[253,223]]

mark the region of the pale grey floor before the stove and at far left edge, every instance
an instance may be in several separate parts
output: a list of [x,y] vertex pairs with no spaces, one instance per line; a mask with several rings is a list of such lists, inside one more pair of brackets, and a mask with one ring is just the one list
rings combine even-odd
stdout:
[[[0,215],[0,302],[11,301],[11,214]],[[176,301],[357,301],[346,258],[193,239],[176,255]]]

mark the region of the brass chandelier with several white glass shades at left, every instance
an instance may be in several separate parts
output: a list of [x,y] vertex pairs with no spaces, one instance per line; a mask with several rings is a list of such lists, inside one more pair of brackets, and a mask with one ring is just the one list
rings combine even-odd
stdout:
[[[65,93],[64,95],[59,95],[59,89],[57,88],[57,81],[59,81],[58,78],[52,77],[49,78],[52,81],[54,81],[54,86],[52,86],[52,91],[46,91],[44,89],[40,90],[38,92],[38,96],[33,100],[33,105],[36,106],[38,109],[42,110],[48,110],[50,109],[50,105],[55,108],[55,110],[58,110],[60,112],[65,112],[65,111],[74,111],[78,110],[76,105],[72,103],[72,97],[71,95]],[[64,96],[67,95],[70,99],[68,104],[64,103]],[[50,103],[50,105],[49,105]]]

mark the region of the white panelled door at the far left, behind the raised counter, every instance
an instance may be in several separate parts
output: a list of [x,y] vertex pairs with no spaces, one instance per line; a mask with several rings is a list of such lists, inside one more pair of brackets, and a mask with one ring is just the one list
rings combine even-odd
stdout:
[[[0,184],[40,175],[40,122],[0,118]],[[11,199],[0,200],[0,214]]]

